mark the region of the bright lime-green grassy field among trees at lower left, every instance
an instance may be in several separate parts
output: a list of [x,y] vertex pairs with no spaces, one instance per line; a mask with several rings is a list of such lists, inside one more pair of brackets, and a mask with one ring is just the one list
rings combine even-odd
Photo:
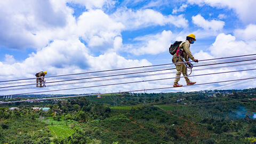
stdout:
[[74,133],[73,129],[69,128],[69,125],[48,125],[49,130],[51,131],[51,134],[54,138],[67,138],[72,133]]

